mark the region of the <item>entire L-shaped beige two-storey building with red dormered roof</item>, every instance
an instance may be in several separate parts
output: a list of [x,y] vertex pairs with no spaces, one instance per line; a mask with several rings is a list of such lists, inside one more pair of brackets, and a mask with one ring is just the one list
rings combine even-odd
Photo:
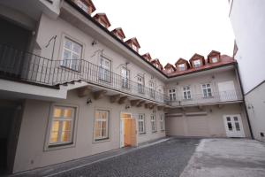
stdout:
[[[28,9],[28,7],[34,7]],[[90,0],[0,3],[1,167],[19,173],[165,135],[250,137],[237,61],[175,66]]]

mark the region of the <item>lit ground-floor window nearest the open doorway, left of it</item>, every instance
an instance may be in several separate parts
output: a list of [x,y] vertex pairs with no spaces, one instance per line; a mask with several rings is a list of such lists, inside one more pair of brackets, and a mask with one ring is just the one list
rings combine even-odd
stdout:
[[95,112],[95,141],[109,138],[109,119],[110,112],[103,110],[97,110]]

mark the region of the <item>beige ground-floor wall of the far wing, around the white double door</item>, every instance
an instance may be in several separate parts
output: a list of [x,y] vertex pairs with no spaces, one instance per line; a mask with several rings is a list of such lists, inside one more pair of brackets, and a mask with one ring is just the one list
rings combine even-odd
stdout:
[[243,104],[208,105],[202,109],[193,107],[168,112],[167,135],[227,137],[223,116],[237,114],[242,119],[245,137],[250,137]]

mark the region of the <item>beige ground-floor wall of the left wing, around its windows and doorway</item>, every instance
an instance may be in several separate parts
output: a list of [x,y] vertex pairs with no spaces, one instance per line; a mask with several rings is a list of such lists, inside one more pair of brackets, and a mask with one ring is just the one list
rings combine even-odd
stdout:
[[[163,137],[165,132],[159,127],[159,116],[163,111],[156,111],[155,133],[151,131],[150,115],[153,110],[144,107],[125,109],[125,104],[110,104],[110,98],[92,100],[87,104],[87,97],[80,98],[76,90],[72,90],[66,100],[58,102],[43,102],[26,100],[19,142],[14,164],[14,173],[34,169],[36,167],[53,165],[64,161],[87,157],[96,153],[120,148],[120,113],[133,114],[133,119],[138,119],[138,114],[145,115],[146,133],[138,134],[138,143]],[[49,136],[49,120],[52,106],[67,105],[78,108],[73,144],[69,147],[47,148]],[[110,112],[110,137],[107,140],[95,142],[94,125],[95,111],[106,110]]]

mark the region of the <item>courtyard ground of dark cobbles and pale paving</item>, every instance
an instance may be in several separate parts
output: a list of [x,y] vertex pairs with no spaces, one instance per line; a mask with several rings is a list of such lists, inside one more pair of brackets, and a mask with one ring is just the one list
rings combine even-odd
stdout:
[[248,139],[170,138],[15,176],[262,177],[265,143]]

